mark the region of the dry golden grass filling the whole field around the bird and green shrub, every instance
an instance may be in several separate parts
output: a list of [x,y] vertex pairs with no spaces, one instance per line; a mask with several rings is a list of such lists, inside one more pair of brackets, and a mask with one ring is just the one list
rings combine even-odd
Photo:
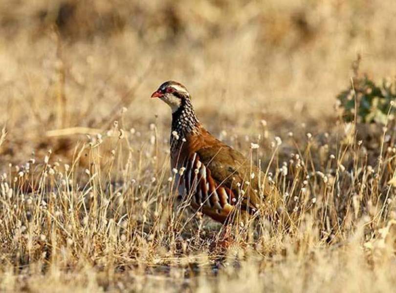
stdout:
[[[2,1],[1,290],[393,291],[395,120],[334,105],[357,53],[395,77],[395,15],[394,0]],[[148,99],[169,79],[283,194],[226,241],[172,192],[169,109]]]

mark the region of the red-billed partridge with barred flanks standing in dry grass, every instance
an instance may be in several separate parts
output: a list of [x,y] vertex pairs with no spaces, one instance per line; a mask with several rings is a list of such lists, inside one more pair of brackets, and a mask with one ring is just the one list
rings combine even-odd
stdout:
[[276,206],[276,187],[249,158],[205,129],[183,84],[167,81],[151,97],[171,107],[171,170],[179,196],[194,210],[224,224],[260,214],[271,202]]

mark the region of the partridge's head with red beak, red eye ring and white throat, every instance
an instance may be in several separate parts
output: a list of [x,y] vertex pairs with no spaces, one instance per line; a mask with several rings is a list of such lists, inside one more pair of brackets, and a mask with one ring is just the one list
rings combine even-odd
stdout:
[[176,112],[181,105],[190,100],[187,88],[183,84],[174,81],[161,84],[151,97],[160,98],[171,107],[172,112]]

